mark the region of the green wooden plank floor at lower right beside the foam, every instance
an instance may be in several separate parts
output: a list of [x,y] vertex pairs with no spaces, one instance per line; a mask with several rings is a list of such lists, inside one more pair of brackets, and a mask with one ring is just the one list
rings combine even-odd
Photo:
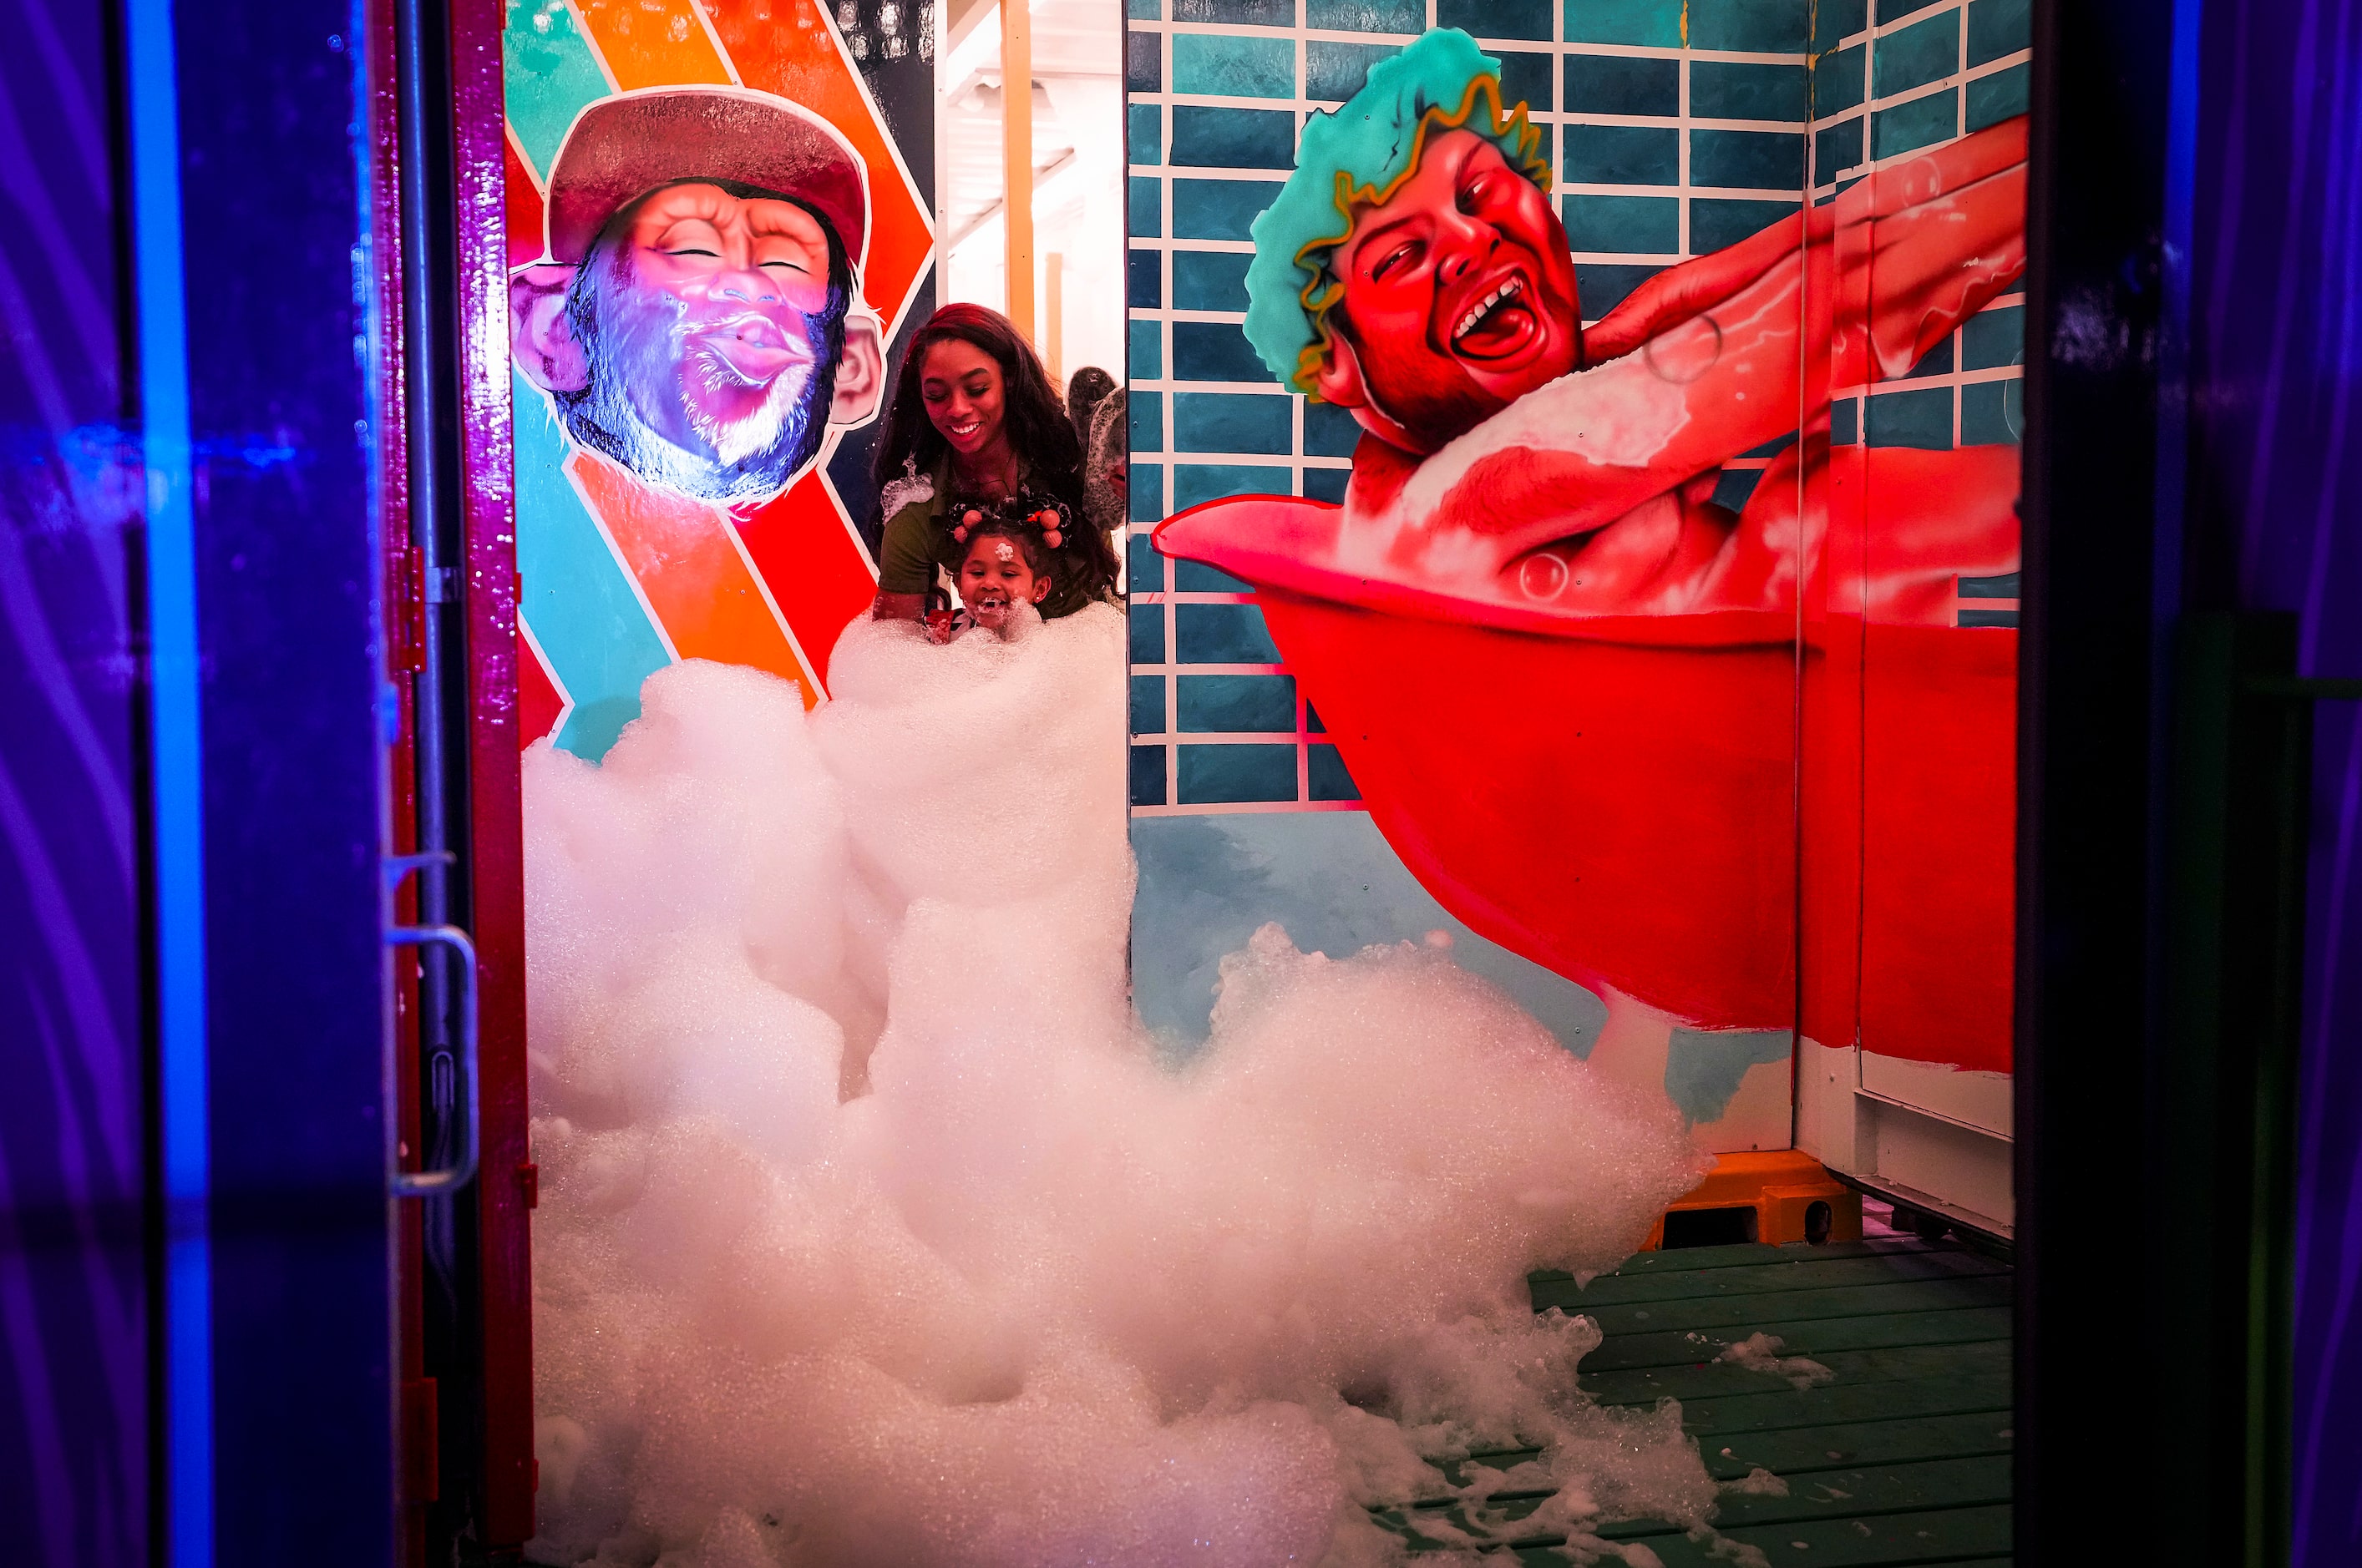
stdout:
[[[2008,1263],[1906,1237],[1694,1247],[1644,1252],[1587,1289],[1535,1275],[1533,1306],[1599,1322],[1606,1341],[1583,1360],[1597,1400],[1672,1396],[1715,1478],[1762,1466],[1788,1483],[1786,1497],[1724,1495],[1715,1511],[1724,1535],[1776,1568],[2010,1561]],[[1795,1389],[1712,1360],[1753,1332],[1779,1334],[1781,1355],[1807,1355],[1835,1377]],[[1509,1466],[1531,1452],[1472,1462]],[[1495,1504],[1512,1495],[1498,1492]],[[1403,1518],[1379,1514],[1382,1523]],[[1672,1525],[1601,1535],[1646,1542],[1665,1568],[1729,1563]],[[1521,1561],[1564,1563],[1554,1544],[1547,1535],[1514,1542]]]

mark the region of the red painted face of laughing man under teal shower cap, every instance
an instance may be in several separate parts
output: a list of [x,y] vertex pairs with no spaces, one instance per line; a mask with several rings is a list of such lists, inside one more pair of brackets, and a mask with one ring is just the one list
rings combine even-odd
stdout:
[[1356,213],[1330,264],[1344,300],[1318,390],[1415,451],[1583,364],[1566,229],[1472,130],[1431,137],[1394,196]]

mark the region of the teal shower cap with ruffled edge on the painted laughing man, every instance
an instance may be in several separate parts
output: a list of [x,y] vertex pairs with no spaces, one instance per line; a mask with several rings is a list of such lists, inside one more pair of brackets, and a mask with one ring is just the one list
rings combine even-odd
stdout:
[[1327,361],[1327,314],[1344,298],[1330,255],[1353,231],[1353,208],[1377,205],[1420,168],[1429,132],[1474,130],[1509,168],[1549,189],[1542,132],[1526,106],[1502,113],[1500,61],[1460,28],[1434,28],[1370,66],[1337,113],[1316,113],[1297,142],[1297,172],[1254,220],[1247,342],[1275,378],[1311,394]]

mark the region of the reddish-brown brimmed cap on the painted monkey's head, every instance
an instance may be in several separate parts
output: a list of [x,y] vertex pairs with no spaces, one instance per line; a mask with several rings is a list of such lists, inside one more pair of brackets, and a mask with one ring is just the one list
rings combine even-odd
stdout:
[[548,187],[553,262],[576,264],[609,217],[676,179],[739,179],[813,205],[860,267],[869,175],[817,116],[744,87],[650,87],[574,116]]

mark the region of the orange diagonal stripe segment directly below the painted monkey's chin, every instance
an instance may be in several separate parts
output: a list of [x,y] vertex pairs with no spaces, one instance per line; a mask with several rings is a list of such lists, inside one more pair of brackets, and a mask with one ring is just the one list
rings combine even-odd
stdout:
[[803,687],[803,706],[820,701],[820,680],[796,652],[720,508],[640,484],[583,451],[567,456],[567,475],[607,524],[673,652],[770,671]]

